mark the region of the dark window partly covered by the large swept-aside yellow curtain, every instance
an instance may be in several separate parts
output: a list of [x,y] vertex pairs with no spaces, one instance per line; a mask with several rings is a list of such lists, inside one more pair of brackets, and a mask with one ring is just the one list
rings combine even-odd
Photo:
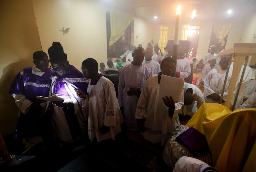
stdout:
[[111,36],[110,28],[110,13],[106,12],[106,33],[107,33],[107,53],[108,59],[116,58],[120,55],[123,55],[126,50],[128,50],[129,45],[133,44],[133,25],[134,20],[129,24],[122,36],[114,42],[112,46],[109,46],[109,39]]

